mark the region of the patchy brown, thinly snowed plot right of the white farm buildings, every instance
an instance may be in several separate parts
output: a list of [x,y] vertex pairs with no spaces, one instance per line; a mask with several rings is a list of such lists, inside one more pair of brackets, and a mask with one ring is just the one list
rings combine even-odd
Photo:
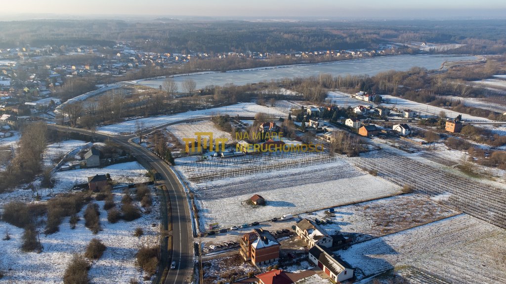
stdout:
[[456,214],[459,213],[423,196],[408,194],[341,206],[334,213],[325,210],[299,217],[330,219],[332,223],[321,225],[327,233],[351,233],[355,242],[362,242]]

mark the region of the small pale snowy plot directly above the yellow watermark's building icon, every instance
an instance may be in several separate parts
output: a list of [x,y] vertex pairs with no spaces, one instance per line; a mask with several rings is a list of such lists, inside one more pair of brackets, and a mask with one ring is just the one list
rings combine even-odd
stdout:
[[183,138],[194,138],[195,132],[213,132],[214,139],[232,139],[232,135],[230,135],[230,133],[221,130],[214,124],[214,122],[209,120],[171,125],[167,127],[167,131],[174,134],[181,143],[184,143]]

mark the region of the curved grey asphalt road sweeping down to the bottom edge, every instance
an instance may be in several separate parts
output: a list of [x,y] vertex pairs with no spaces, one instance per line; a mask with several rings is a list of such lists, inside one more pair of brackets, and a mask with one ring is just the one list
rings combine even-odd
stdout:
[[[173,248],[169,254],[169,271],[165,284],[189,283],[193,272],[193,233],[192,220],[186,193],[170,166],[159,159],[148,149],[133,143],[130,138],[133,136],[110,136],[102,133],[96,133],[86,129],[72,128],[56,124],[48,124],[48,128],[59,131],[93,135],[99,139],[110,139],[115,143],[131,149],[132,154],[144,159],[162,176],[168,196],[171,200],[172,209],[172,235]],[[171,221],[171,220],[170,220]],[[171,269],[170,263],[176,262],[176,268]]]

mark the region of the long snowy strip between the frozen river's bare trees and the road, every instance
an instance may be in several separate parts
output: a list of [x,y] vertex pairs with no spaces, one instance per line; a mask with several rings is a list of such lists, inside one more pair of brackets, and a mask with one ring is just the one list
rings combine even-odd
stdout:
[[263,112],[276,117],[285,116],[283,112],[275,108],[259,106],[254,103],[240,103],[232,106],[206,109],[199,111],[189,111],[175,115],[162,115],[148,118],[141,118],[135,120],[124,121],[118,124],[102,126],[98,128],[98,132],[105,134],[132,134],[136,131],[136,123],[143,123],[146,128],[153,128],[167,123],[182,121],[185,119],[208,117],[217,114],[228,114],[230,116],[251,116],[254,117],[257,113]]

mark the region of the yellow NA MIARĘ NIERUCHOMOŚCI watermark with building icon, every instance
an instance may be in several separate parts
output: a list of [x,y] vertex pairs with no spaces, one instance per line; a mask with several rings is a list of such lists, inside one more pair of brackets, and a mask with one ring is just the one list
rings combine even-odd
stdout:
[[[238,142],[235,145],[236,152],[246,154],[273,153],[273,152],[323,152],[323,144],[314,143],[289,143],[282,141],[283,132],[236,132],[235,138]],[[273,140],[276,139],[276,140]],[[249,143],[248,140],[264,143]],[[195,132],[193,138],[183,138],[185,150],[187,153],[201,153],[204,150],[210,152],[225,152],[225,145],[228,144],[228,138],[213,139],[213,132]]]

